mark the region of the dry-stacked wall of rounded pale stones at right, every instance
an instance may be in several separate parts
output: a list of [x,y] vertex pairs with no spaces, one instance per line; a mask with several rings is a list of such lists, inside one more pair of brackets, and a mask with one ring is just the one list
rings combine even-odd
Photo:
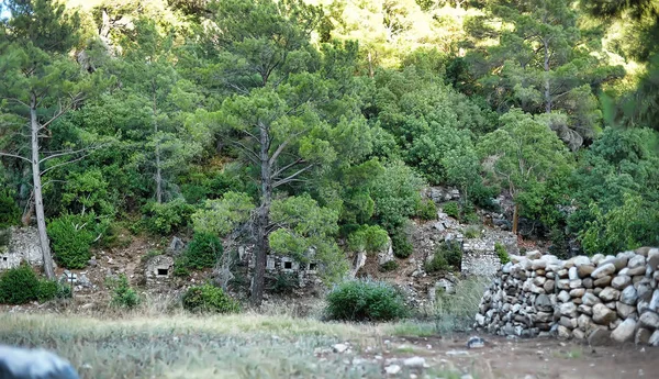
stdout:
[[511,256],[488,288],[476,327],[522,337],[659,346],[659,248],[560,260]]

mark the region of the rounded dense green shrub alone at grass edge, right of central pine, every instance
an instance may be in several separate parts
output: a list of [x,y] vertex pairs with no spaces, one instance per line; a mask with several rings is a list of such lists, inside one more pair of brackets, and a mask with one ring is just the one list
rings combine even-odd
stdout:
[[327,317],[342,321],[391,321],[407,315],[402,294],[373,280],[345,281],[327,294]]

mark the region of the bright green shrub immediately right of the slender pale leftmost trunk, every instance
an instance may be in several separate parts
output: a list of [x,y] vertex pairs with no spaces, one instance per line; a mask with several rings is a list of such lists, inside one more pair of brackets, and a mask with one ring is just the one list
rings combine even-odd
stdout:
[[55,259],[66,268],[85,268],[91,258],[89,248],[103,226],[97,224],[96,215],[69,214],[51,221],[48,236]]

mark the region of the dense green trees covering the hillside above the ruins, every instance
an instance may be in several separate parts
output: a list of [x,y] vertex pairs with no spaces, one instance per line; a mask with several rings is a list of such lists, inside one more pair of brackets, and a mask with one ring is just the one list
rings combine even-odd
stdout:
[[[5,0],[0,226],[80,268],[122,231],[346,252],[514,203],[567,255],[659,245],[654,0]],[[189,259],[181,267],[213,260]],[[260,278],[260,280],[259,280]]]

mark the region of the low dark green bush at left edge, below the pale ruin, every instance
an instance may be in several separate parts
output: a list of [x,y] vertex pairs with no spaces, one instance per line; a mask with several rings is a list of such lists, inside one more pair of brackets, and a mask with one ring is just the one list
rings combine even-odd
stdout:
[[22,263],[0,276],[0,303],[24,304],[30,301],[48,301],[57,296],[57,283],[40,280],[32,268]]

